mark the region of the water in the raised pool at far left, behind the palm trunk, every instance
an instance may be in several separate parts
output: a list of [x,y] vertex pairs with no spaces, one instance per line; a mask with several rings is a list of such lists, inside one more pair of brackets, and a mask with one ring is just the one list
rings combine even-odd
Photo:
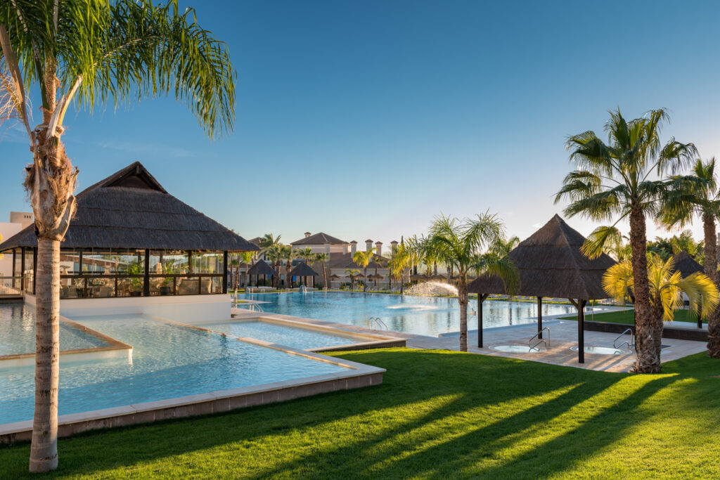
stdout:
[[[60,350],[106,347],[87,332],[60,322]],[[0,356],[35,353],[35,314],[24,304],[0,304]]]

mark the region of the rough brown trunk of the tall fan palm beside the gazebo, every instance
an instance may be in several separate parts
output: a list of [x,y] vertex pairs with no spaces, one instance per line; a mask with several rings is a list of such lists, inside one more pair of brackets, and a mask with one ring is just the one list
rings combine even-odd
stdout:
[[657,373],[660,371],[660,348],[657,348],[655,337],[662,336],[662,331],[657,332],[657,325],[655,325],[650,306],[645,214],[639,208],[632,209],[630,213],[630,246],[635,290],[635,350],[637,358],[634,370],[639,373]]

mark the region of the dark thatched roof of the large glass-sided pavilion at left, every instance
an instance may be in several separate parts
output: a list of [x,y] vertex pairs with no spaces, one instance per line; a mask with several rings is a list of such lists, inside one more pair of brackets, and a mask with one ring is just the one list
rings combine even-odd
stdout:
[[[254,251],[235,235],[163,189],[139,162],[77,195],[78,209],[62,248]],[[35,227],[9,237],[0,250],[35,247]]]

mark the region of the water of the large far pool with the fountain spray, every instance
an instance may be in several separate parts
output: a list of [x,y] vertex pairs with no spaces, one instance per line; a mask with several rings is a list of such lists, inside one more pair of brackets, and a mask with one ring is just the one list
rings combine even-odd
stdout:
[[[457,299],[361,294],[339,291],[311,291],[306,294],[249,294],[243,299],[267,302],[261,304],[265,312],[312,318],[328,322],[347,323],[367,327],[370,317],[379,317],[389,330],[436,337],[460,330],[460,307]],[[471,299],[469,307],[477,308]],[[543,304],[543,315],[572,314],[572,305]],[[483,302],[484,328],[534,323],[536,302]],[[477,329],[477,316],[468,316],[469,330]]]

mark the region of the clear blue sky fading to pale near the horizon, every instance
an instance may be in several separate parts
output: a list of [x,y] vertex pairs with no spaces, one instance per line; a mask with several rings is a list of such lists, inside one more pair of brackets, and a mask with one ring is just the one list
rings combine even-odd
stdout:
[[[565,138],[600,132],[608,109],[666,107],[666,138],[720,155],[715,2],[181,5],[228,43],[235,131],[210,142],[171,99],[68,113],[79,189],[140,160],[247,238],[322,230],[388,243],[441,212],[486,210],[524,238],[562,211],[553,197],[570,171]],[[5,211],[30,208],[20,183],[31,158],[22,132],[0,135],[6,221]]]

